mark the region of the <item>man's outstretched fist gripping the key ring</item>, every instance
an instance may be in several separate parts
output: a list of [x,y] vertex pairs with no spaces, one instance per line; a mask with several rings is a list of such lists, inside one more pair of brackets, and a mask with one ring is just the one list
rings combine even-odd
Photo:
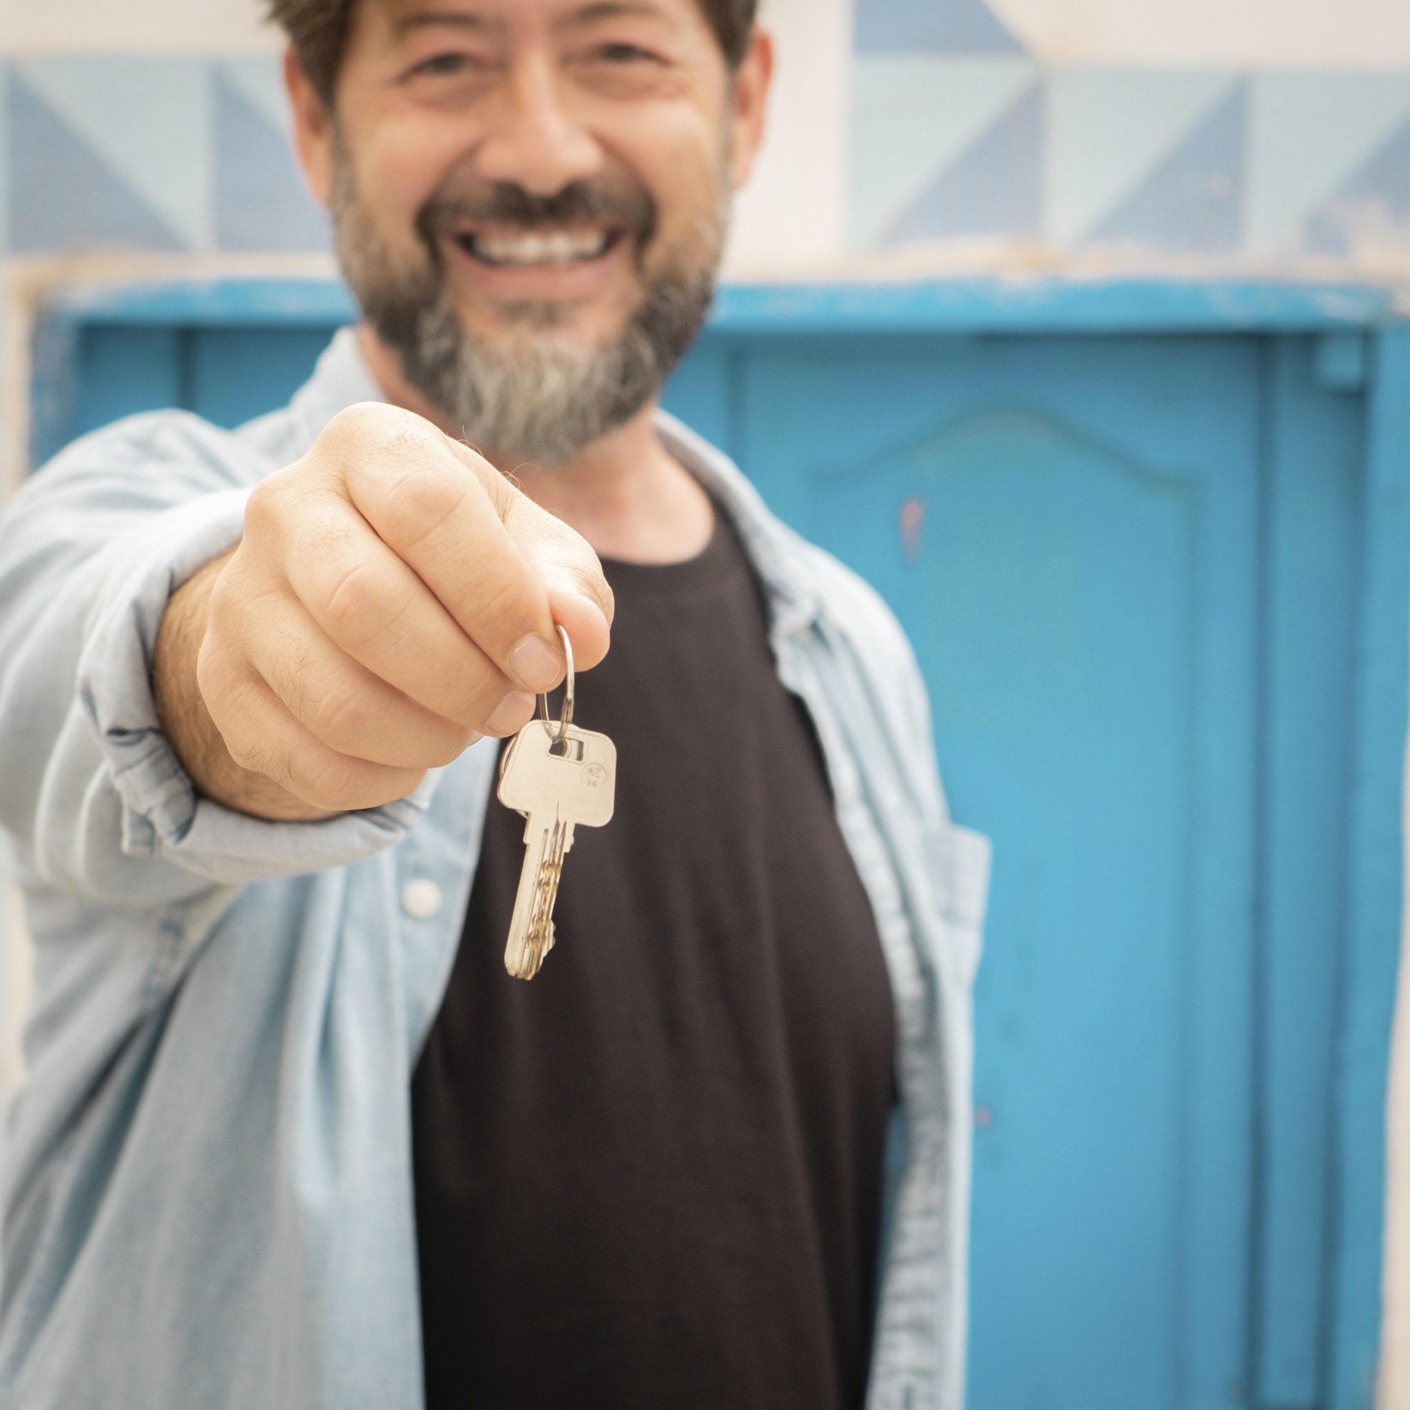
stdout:
[[577,533],[429,422],[360,406],[251,494],[197,682],[243,768],[375,807],[520,729],[564,675],[557,625],[588,670],[612,611]]

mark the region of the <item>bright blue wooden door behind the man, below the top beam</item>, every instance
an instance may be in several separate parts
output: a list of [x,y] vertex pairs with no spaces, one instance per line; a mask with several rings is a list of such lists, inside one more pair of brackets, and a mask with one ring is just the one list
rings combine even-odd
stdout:
[[[326,302],[79,320],[37,441],[272,407]],[[1373,398],[1358,333],[788,323],[725,317],[667,405],[887,596],[994,839],[973,1410],[1369,1406],[1410,340]]]

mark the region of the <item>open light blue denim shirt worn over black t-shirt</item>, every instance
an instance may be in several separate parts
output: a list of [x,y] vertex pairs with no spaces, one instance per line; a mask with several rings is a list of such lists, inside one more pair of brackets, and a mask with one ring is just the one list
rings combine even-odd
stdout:
[[[238,540],[250,486],[378,395],[343,333],[286,410],[235,433],[176,412],[121,422],[0,522],[0,826],[37,967],[4,1172],[0,1406],[423,1403],[409,1086],[496,744],[385,808],[259,822],[196,795],[148,685],[169,595]],[[869,1410],[960,1410],[988,847],[948,816],[925,688],[880,598],[719,453],[667,416],[660,434],[764,584],[895,994]]]

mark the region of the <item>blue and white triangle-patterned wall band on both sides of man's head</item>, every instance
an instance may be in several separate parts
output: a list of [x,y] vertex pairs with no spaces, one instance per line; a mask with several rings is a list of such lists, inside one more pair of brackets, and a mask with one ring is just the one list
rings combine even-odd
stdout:
[[[857,0],[853,24],[854,252],[1410,269],[1410,68],[1052,65],[983,0]],[[326,248],[272,58],[0,66],[0,250]]]

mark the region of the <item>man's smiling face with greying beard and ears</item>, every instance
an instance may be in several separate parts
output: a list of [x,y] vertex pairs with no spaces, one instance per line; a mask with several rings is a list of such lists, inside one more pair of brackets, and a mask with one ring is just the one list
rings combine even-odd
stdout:
[[571,458],[651,400],[709,306],[770,54],[697,0],[361,0],[300,152],[368,323],[470,440]]

